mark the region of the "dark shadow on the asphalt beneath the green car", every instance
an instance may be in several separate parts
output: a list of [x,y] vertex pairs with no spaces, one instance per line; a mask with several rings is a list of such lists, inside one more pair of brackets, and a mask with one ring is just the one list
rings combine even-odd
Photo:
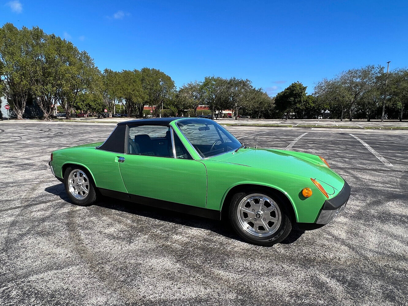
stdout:
[[[57,184],[49,186],[44,189],[48,193],[53,195],[58,195],[65,202],[70,203],[71,205],[76,205],[71,202],[67,193],[65,192],[64,184]],[[207,219],[204,217],[198,217],[195,215],[188,215],[186,213],[177,213],[175,211],[170,211],[166,209],[159,209],[156,207],[146,206],[143,204],[136,204],[133,202],[127,202],[123,200],[113,199],[110,197],[104,197],[98,203],[94,204],[95,206],[108,208],[116,211],[122,211],[124,213],[131,213],[134,215],[139,215],[143,217],[153,218],[156,220],[161,220],[164,222],[172,222],[175,224],[180,224],[183,226],[190,226],[195,228],[201,228],[209,231],[213,231],[219,235],[238,240],[240,242],[245,242],[241,237],[236,235],[231,228],[229,222],[218,221]],[[291,244],[295,242],[299,237],[305,232],[304,229],[295,226],[290,235],[281,243],[282,244]]]

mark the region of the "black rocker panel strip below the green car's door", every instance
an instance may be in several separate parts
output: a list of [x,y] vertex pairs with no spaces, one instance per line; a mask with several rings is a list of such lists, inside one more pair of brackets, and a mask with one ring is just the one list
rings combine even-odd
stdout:
[[153,206],[158,208],[167,209],[169,211],[177,211],[179,213],[188,213],[190,215],[196,215],[204,218],[221,220],[221,211],[214,209],[207,209],[202,207],[196,207],[186,204],[180,204],[175,202],[169,202],[164,200],[157,200],[151,197],[142,197],[140,195],[132,195],[120,191],[113,191],[109,189],[99,188],[102,195],[106,197],[113,197],[115,199],[130,201],[147,206]]

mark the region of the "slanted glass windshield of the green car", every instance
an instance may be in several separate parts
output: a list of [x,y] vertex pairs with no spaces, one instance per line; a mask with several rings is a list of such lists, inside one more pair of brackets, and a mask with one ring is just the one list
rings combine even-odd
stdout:
[[177,126],[201,157],[220,155],[241,146],[237,138],[213,120],[184,119]]

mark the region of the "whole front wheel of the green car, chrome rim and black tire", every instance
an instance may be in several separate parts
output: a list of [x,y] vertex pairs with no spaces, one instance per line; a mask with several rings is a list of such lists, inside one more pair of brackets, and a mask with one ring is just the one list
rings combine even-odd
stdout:
[[236,193],[231,200],[229,218],[239,236],[259,246],[282,242],[292,230],[283,202],[262,192]]

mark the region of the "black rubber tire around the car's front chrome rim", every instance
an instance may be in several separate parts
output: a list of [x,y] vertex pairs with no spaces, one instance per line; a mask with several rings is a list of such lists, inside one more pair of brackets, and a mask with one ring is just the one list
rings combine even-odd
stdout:
[[[257,237],[248,231],[245,231],[242,225],[240,224],[239,217],[238,217],[238,207],[242,200],[245,197],[251,194],[264,194],[273,200],[280,210],[281,215],[281,222],[279,227],[276,229],[274,233],[268,235],[267,237]],[[245,241],[255,244],[258,246],[273,246],[279,242],[282,242],[286,237],[288,237],[290,231],[292,230],[292,222],[290,221],[288,209],[284,201],[282,201],[277,195],[270,195],[262,190],[248,190],[245,192],[235,193],[231,199],[231,204],[229,206],[228,217],[231,222],[231,226],[235,230],[235,232],[242,237]]]

